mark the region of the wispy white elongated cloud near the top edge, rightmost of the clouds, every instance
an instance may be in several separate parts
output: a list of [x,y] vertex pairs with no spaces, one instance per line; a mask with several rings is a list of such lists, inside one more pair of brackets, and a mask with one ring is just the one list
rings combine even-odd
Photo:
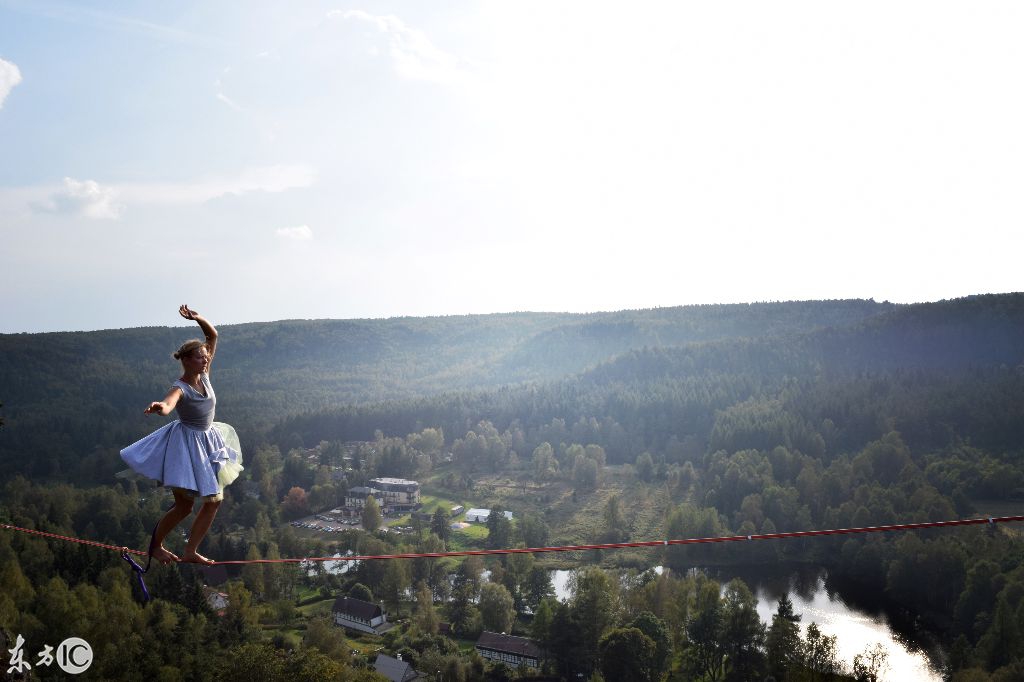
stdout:
[[[459,57],[438,48],[427,34],[407,26],[397,16],[376,16],[361,9],[335,9],[327,15],[328,18],[361,22],[375,28],[386,40],[386,51],[391,56],[395,72],[403,78],[453,85],[465,81],[468,76]],[[370,53],[378,54],[377,47],[371,46]]]

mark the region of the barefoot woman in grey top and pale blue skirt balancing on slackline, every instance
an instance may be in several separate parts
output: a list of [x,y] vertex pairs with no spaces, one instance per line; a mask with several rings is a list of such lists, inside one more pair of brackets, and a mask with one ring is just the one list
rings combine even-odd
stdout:
[[[125,447],[121,457],[136,473],[170,487],[174,494],[174,506],[153,532],[150,556],[163,563],[211,564],[210,559],[196,550],[217,515],[224,486],[242,471],[242,447],[234,429],[213,421],[217,396],[210,384],[210,364],[217,350],[217,330],[187,305],[182,305],[178,312],[185,319],[199,323],[206,340],[193,339],[181,344],[174,352],[174,359],[181,360],[181,378],[163,400],[145,409],[146,415],[169,415],[177,410],[178,419]],[[203,506],[196,514],[184,554],[179,559],[164,547],[164,538],[191,513],[196,498]]]

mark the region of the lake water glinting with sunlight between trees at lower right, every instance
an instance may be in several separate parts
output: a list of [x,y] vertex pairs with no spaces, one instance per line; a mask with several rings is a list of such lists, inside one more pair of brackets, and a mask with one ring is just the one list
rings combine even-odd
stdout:
[[[655,570],[660,571],[660,567]],[[559,599],[569,596],[569,570],[551,571],[551,581]],[[936,664],[925,650],[925,643],[919,638],[912,624],[898,622],[879,606],[854,603],[828,584],[823,570],[794,570],[776,576],[766,574],[759,569],[753,571],[719,572],[714,578],[723,585],[733,578],[746,583],[758,599],[758,614],[761,620],[771,623],[778,599],[788,593],[794,611],[801,614],[801,627],[806,634],[807,626],[814,623],[825,635],[837,637],[839,658],[847,667],[853,657],[864,649],[881,643],[889,653],[889,668],[882,677],[891,681],[941,682],[942,675]],[[937,645],[930,645],[934,657],[941,658]]]

